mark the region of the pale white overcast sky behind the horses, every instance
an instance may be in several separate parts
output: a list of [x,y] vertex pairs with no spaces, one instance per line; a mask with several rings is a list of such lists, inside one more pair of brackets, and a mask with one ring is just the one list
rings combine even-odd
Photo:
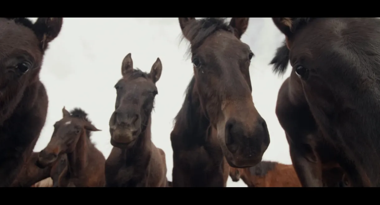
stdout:
[[[193,73],[185,54],[187,42],[180,43],[181,34],[177,18],[64,18],[59,36],[46,51],[41,70],[49,108],[34,151],[42,150],[49,142],[55,121],[62,118],[63,106],[67,110],[81,107],[93,124],[103,130],[93,132],[92,141],[107,158],[112,149],[108,121],[114,111],[114,85],[121,78],[123,58],[131,53],[133,66],[149,72],[159,57],[163,71],[152,112],[152,140],[166,153],[166,176],[171,181],[170,132]],[[288,143],[275,115],[277,93],[290,69],[285,77],[278,77],[268,65],[283,39],[271,18],[250,18],[248,30],[241,38],[255,54],[250,66],[252,96],[271,138],[263,160],[291,164]],[[227,186],[247,185],[228,178]]]

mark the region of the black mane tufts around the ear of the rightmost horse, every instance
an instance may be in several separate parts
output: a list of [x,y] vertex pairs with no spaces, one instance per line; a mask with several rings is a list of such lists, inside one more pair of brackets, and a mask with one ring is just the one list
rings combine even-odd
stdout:
[[[293,33],[304,28],[310,21],[316,18],[291,18],[292,25],[291,31]],[[282,76],[288,68],[289,63],[289,49],[286,45],[286,42],[283,41],[282,45],[277,48],[274,58],[271,60],[269,65],[273,65],[273,72]]]

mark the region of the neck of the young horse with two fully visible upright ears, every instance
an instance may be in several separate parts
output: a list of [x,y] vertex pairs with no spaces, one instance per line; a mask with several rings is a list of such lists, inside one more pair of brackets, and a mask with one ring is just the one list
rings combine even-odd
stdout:
[[150,157],[152,117],[149,115],[146,127],[137,137],[136,142],[130,148],[122,149],[122,157],[125,161],[135,161],[135,159]]

